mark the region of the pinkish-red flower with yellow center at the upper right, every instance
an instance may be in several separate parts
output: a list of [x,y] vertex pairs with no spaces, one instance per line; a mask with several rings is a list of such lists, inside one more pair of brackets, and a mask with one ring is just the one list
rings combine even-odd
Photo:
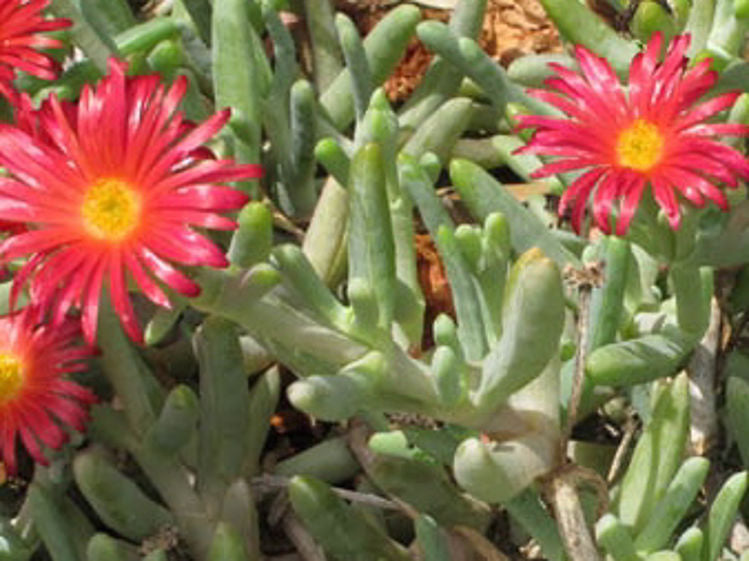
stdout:
[[582,74],[552,64],[557,74],[546,85],[556,92],[530,92],[569,118],[520,117],[518,128],[534,127],[536,132],[518,152],[560,156],[534,177],[587,169],[565,191],[559,208],[564,214],[573,205],[572,225],[578,232],[594,191],[598,227],[610,232],[612,207],[618,201],[616,233],[623,235],[647,185],[676,229],[681,219],[677,192],[697,207],[710,199],[726,210],[728,203],[716,183],[736,187],[737,176],[749,178],[745,157],[714,140],[718,135],[749,134],[749,127],[704,123],[731,107],[739,94],[696,104],[717,80],[710,61],[687,70],[686,35],[675,37],[658,63],[661,46],[661,34],[656,33],[645,52],[634,57],[627,91],[605,59],[578,46]]

